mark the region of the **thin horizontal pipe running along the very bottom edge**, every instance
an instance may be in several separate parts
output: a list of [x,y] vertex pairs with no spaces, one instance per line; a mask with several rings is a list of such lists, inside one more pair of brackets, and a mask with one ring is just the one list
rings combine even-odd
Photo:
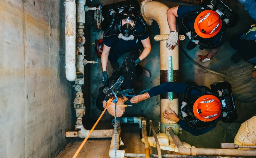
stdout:
[[[135,154],[135,153],[125,153],[125,157],[146,157],[146,154]],[[158,157],[157,154],[150,154],[150,157]],[[169,155],[163,154],[163,158],[227,158],[222,156],[190,156],[190,155]],[[242,158],[242,157],[228,157],[228,158]]]

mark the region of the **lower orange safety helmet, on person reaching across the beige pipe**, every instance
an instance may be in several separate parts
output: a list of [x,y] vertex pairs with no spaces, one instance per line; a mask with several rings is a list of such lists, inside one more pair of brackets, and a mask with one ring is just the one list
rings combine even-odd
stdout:
[[201,121],[213,121],[221,113],[220,100],[213,95],[203,95],[199,97],[193,106],[193,112],[196,118]]

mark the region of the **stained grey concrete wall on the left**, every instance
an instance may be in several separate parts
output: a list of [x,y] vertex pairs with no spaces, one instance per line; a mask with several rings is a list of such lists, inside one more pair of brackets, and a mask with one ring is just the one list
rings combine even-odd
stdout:
[[0,157],[55,157],[68,143],[64,0],[0,2]]

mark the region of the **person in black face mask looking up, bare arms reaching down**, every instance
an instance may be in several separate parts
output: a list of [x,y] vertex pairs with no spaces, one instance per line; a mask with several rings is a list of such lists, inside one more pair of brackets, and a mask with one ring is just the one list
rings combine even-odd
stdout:
[[[145,59],[151,52],[151,44],[146,30],[146,23],[139,13],[139,3],[137,1],[134,1],[134,3],[138,7],[128,6],[121,12],[115,8],[108,8],[117,5],[103,6],[102,8],[102,15],[105,17],[104,21],[106,21],[106,16],[111,17],[112,19],[107,27],[108,29],[103,34],[104,45],[101,54],[101,65],[103,76],[102,83],[104,85],[108,80],[106,71],[108,60],[110,61],[112,68],[114,70],[117,69],[119,67],[117,62],[118,58],[125,53],[133,52],[139,49],[140,42],[142,43],[144,49],[141,52],[141,55],[139,55],[139,58],[133,61],[135,65]],[[111,11],[110,13],[108,11],[108,13],[105,14],[104,10]],[[147,70],[143,69],[143,73],[147,74],[147,77],[150,77],[150,73]]]

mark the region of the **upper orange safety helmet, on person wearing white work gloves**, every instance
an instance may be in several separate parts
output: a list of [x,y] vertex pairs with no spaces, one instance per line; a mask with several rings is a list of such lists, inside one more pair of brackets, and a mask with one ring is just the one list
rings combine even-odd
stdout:
[[213,10],[202,11],[195,20],[194,29],[198,36],[211,38],[221,29],[222,20],[220,15]]

